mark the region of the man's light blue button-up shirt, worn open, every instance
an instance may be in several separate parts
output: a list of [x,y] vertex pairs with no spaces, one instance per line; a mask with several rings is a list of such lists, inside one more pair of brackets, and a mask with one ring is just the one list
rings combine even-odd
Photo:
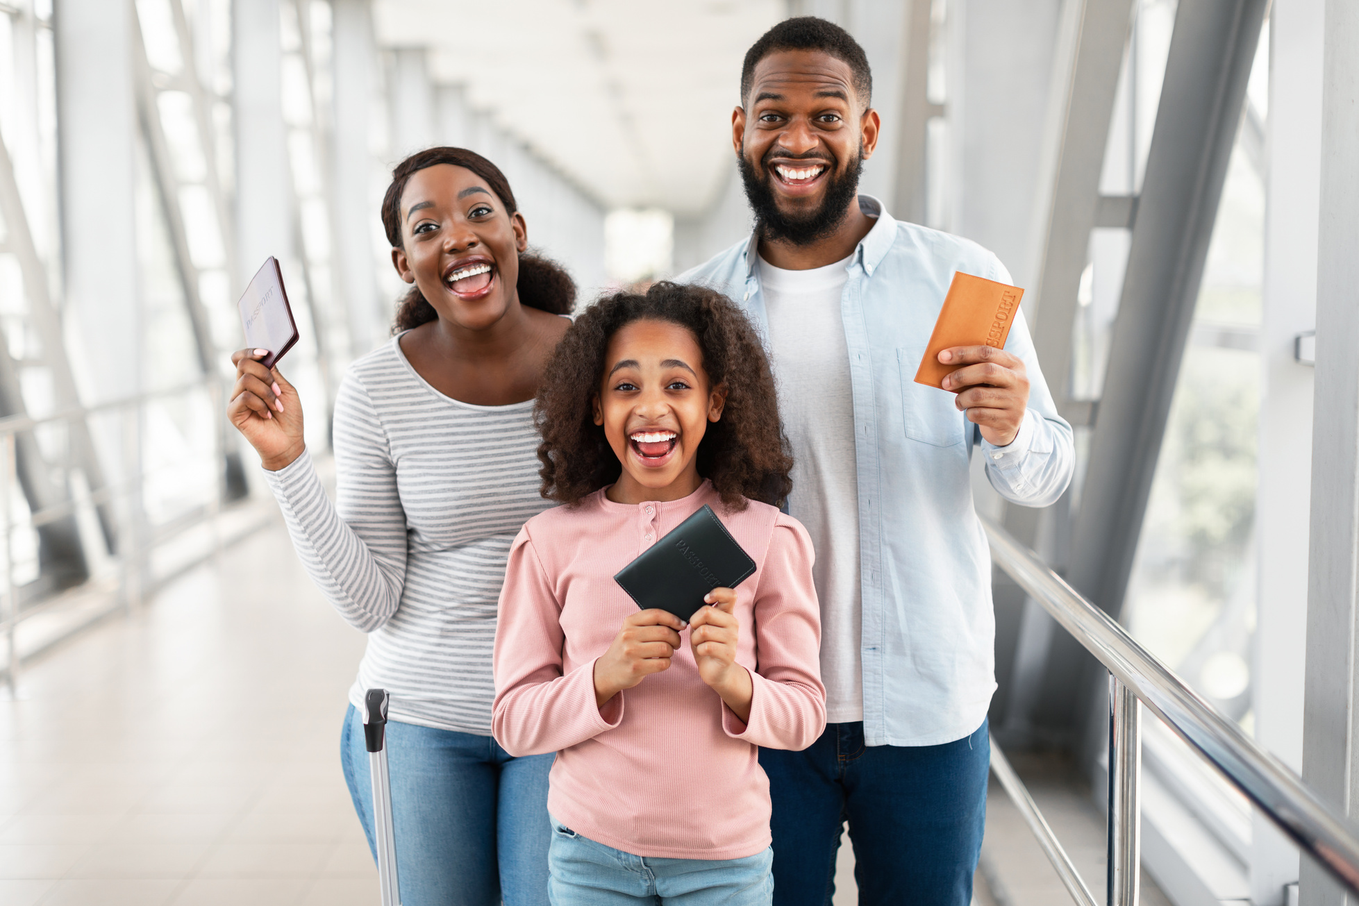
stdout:
[[[996,689],[991,557],[968,475],[973,450],[1000,496],[1046,507],[1071,481],[1071,425],[1057,414],[1022,314],[1004,348],[1027,369],[1029,410],[1008,446],[983,440],[954,394],[915,383],[954,272],[1011,278],[973,242],[893,220],[868,196],[859,205],[878,221],[851,258],[840,316],[859,473],[864,738],[934,746],[974,732]],[[724,292],[768,337],[757,244],[752,235],[677,281]]]

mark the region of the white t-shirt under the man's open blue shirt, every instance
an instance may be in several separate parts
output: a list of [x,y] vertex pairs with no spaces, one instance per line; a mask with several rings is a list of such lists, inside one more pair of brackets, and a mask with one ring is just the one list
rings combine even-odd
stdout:
[[863,720],[859,475],[840,321],[848,264],[784,270],[760,259],[779,412],[795,460],[788,511],[817,551],[811,577],[821,599],[821,681],[833,724]]

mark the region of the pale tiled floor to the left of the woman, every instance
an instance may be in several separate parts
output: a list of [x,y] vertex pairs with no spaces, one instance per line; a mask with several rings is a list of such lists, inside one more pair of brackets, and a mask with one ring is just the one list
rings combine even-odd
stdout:
[[374,906],[340,774],[363,637],[270,528],[0,701],[0,906]]

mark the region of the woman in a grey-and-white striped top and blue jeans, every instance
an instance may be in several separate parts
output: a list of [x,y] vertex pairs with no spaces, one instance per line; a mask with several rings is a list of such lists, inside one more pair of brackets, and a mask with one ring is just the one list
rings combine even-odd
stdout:
[[406,906],[546,903],[552,755],[491,738],[491,651],[506,558],[538,494],[533,398],[575,285],[526,255],[504,175],[462,148],[393,171],[391,264],[413,284],[391,342],[351,365],[334,413],[336,504],[303,444],[302,406],[262,350],[232,356],[228,414],[260,452],[298,556],[368,633],[341,758],[374,846],[363,691],[391,693],[397,863]]

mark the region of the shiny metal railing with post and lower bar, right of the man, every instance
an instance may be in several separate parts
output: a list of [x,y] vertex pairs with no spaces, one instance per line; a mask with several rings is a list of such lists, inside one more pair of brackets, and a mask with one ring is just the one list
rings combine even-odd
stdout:
[[[1108,906],[1137,903],[1142,845],[1142,702],[1336,880],[1359,894],[1359,837],[1287,765],[1223,717],[1109,614],[1080,596],[1004,528],[983,519],[991,557],[1109,671]],[[992,740],[991,769],[1010,793],[1072,899],[1090,890]]]

